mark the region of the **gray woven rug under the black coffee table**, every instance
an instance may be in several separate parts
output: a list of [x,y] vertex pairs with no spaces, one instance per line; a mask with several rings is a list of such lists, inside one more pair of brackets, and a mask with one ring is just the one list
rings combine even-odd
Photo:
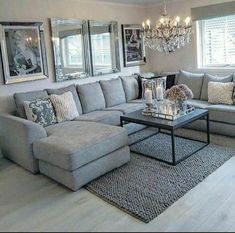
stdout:
[[[145,137],[146,133],[131,136],[130,141]],[[151,157],[171,158],[170,137],[165,134],[131,146],[131,162],[91,182],[87,189],[106,202],[149,223],[188,191],[235,155],[229,147],[209,145],[176,167]],[[177,138],[177,156],[184,156],[201,144]]]

